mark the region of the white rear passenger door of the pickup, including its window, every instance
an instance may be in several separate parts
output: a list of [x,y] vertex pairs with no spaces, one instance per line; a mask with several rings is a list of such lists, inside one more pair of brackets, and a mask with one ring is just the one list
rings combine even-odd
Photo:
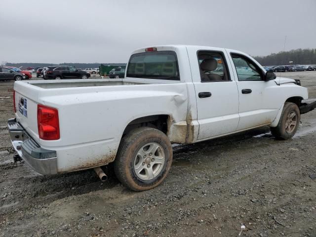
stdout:
[[197,140],[235,132],[239,121],[238,90],[226,51],[188,47],[188,54],[197,96]]

